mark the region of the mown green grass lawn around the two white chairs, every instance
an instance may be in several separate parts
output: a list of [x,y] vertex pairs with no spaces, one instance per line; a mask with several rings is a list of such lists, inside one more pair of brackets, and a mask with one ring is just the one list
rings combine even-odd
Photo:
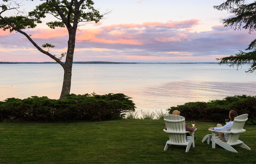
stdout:
[[163,120],[0,123],[0,163],[256,163],[255,126],[239,137],[252,150],[234,153],[201,142],[215,125],[196,122],[195,148],[185,153],[186,146],[164,151]]

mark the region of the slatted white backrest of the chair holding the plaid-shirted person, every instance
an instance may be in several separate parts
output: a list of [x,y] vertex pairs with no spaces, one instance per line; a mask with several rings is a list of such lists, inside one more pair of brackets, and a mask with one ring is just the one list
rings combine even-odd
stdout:
[[[179,115],[166,115],[164,116],[166,129],[172,132],[185,132],[185,117]],[[186,133],[168,133],[170,141],[173,143],[184,143],[186,140]]]

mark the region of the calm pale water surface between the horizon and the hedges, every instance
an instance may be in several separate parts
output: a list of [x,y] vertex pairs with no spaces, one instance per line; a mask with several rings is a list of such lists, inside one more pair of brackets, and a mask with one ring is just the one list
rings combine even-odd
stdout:
[[[124,93],[137,110],[165,111],[191,101],[256,95],[256,76],[218,64],[74,64],[71,93]],[[0,101],[6,98],[59,98],[59,64],[1,64]]]

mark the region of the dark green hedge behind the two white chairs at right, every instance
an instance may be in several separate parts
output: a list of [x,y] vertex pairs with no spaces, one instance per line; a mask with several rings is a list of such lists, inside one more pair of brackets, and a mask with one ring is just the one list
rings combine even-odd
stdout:
[[233,96],[223,100],[212,100],[209,102],[189,102],[184,105],[172,106],[167,109],[168,113],[180,111],[180,115],[186,120],[225,122],[228,119],[229,111],[235,110],[238,115],[249,114],[246,124],[256,125],[256,97]]

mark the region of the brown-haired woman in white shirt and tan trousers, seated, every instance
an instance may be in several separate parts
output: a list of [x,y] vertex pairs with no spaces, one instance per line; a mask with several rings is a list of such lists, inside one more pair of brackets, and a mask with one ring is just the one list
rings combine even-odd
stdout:
[[[230,131],[231,128],[232,128],[234,119],[237,116],[238,116],[237,112],[232,110],[232,111],[229,112],[229,119],[230,119],[230,121],[225,126],[222,126],[221,124],[217,124],[217,127],[209,128],[209,129],[218,130],[218,131]],[[216,132],[216,137],[217,136],[220,136],[220,139],[222,141],[227,142],[228,141],[229,133]]]

